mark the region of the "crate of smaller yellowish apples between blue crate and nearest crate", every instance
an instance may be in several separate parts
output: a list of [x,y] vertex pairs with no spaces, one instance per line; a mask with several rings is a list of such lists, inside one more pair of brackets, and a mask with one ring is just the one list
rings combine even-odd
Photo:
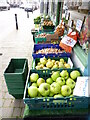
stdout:
[[42,57],[33,60],[33,69],[61,69],[73,68],[73,63],[70,57]]

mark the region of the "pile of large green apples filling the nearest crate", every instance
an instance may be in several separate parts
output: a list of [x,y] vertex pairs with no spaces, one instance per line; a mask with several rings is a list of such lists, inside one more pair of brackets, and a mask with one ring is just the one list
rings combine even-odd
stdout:
[[32,73],[28,95],[31,98],[73,96],[76,79],[79,76],[81,74],[78,70],[73,70],[70,73],[67,70],[54,71],[47,79],[41,78],[38,73]]

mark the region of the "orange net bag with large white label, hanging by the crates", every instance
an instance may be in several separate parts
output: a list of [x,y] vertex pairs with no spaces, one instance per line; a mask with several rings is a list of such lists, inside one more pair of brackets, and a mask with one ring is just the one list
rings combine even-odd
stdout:
[[77,43],[78,33],[70,32],[68,35],[65,35],[60,41],[59,46],[63,48],[66,52],[71,53],[72,48]]

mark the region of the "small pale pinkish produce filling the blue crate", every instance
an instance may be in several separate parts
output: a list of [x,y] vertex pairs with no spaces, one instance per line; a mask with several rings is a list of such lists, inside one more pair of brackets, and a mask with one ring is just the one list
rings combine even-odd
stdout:
[[39,53],[42,53],[42,54],[48,54],[48,53],[63,53],[64,50],[60,50],[60,49],[57,49],[57,48],[44,48],[44,49],[41,49],[41,50],[38,50],[36,51],[36,54],[39,54]]

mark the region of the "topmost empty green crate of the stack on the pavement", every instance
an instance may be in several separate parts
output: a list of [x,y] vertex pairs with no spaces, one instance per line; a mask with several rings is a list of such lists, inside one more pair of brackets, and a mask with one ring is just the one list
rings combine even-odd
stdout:
[[25,82],[28,74],[27,59],[11,59],[4,72],[6,83]]

